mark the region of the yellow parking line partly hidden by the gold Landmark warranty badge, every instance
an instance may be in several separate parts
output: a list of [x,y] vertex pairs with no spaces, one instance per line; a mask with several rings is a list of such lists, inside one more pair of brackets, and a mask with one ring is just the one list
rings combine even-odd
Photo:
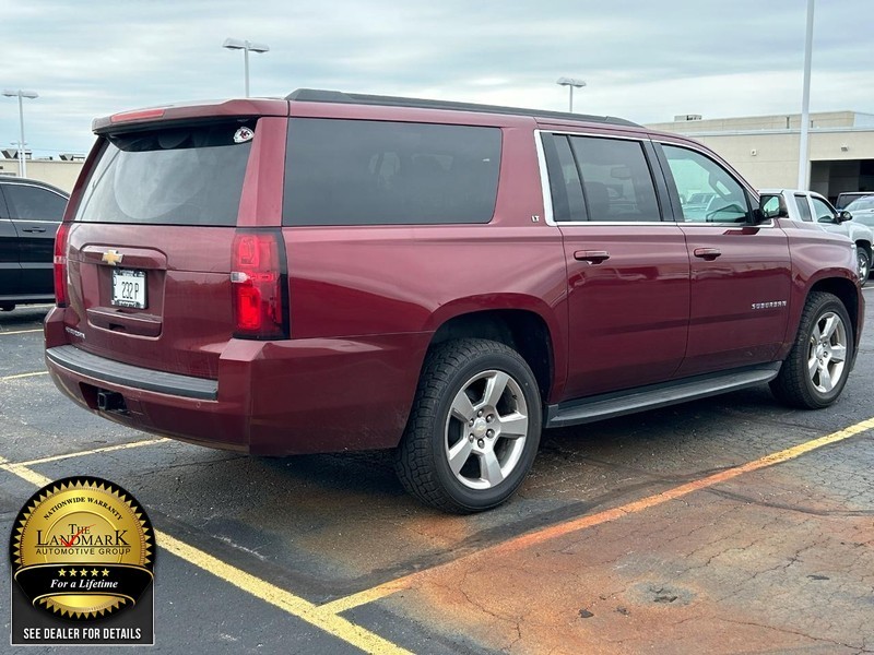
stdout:
[[[37,487],[45,487],[51,483],[50,478],[27,468],[23,464],[10,463],[4,457],[0,457],[0,469],[12,473]],[[410,651],[379,636],[375,632],[370,632],[366,628],[362,628],[338,616],[335,612],[330,610],[326,611],[309,600],[305,600],[265,580],[247,573],[243,569],[228,564],[199,548],[189,546],[165,532],[156,529],[155,540],[161,548],[184,559],[188,563],[203,569],[220,580],[233,584],[235,587],[251,594],[256,598],[260,598],[265,603],[279,607],[283,611],[361,648],[365,653],[375,653],[377,655],[413,655]]]

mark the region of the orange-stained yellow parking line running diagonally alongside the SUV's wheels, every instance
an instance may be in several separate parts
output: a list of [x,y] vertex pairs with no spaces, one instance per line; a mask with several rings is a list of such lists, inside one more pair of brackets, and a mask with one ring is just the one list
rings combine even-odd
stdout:
[[434,573],[435,571],[439,571],[440,569],[454,565],[460,561],[465,561],[472,558],[479,558],[481,556],[486,556],[489,558],[495,558],[497,556],[499,558],[501,555],[505,553],[522,550],[524,548],[542,544],[550,539],[555,539],[557,537],[562,537],[564,535],[568,535],[589,527],[593,527],[595,525],[601,525],[602,523],[616,521],[617,519],[623,519],[624,516],[636,514],[637,512],[642,512],[643,510],[654,508],[668,501],[676,500],[677,498],[687,496],[693,491],[700,491],[701,489],[707,489],[720,483],[724,483],[727,480],[735,478],[740,475],[752,473],[754,471],[759,471],[761,468],[767,468],[769,466],[781,464],[783,462],[789,462],[790,460],[800,457],[801,455],[810,453],[811,451],[820,449],[826,445],[830,445],[832,443],[845,441],[846,439],[850,439],[851,437],[855,437],[857,434],[861,434],[862,432],[866,432],[872,429],[874,429],[874,418],[869,418],[866,420],[852,425],[849,428],[845,428],[843,430],[838,430],[837,432],[832,432],[831,434],[826,434],[825,437],[813,439],[811,441],[800,443],[799,445],[794,445],[792,448],[788,448],[786,450],[781,450],[779,452],[765,455],[764,457],[759,457],[758,460],[747,462],[746,464],[742,464],[740,466],[733,466],[732,468],[727,468],[725,471],[722,471],[720,473],[716,473],[705,478],[700,478],[690,483],[686,483],[684,485],[680,485],[678,487],[674,487],[673,489],[668,489],[666,491],[662,491],[661,493],[654,493],[652,496],[648,496],[647,498],[642,498],[640,500],[626,503],[624,505],[614,508],[612,510],[605,510],[597,514],[580,516],[579,519],[572,519],[565,523],[558,523],[556,525],[544,527],[543,529],[519,535],[518,537],[513,537],[506,541],[501,541],[488,548],[476,550],[475,552],[471,552],[470,555],[462,556],[458,559],[451,560],[442,564],[438,564],[430,569],[416,571],[415,573],[410,573],[409,575],[404,575],[403,577],[386,582],[383,584],[377,585],[369,590],[365,590],[357,594],[352,594],[343,598],[338,598],[336,600],[333,600],[330,605],[336,608],[342,608],[338,609],[338,611],[344,611],[347,609],[352,609],[353,607],[357,607],[359,605],[366,605],[367,603],[382,598],[385,596],[393,594],[394,592],[411,588],[413,583],[423,575],[428,575]]

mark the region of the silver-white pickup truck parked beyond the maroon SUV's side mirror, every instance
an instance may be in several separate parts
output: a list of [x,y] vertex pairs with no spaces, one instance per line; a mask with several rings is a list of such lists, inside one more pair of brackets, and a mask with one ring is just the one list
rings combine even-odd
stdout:
[[780,195],[793,221],[811,223],[820,229],[850,239],[855,245],[859,282],[862,286],[867,284],[871,275],[872,243],[874,243],[874,235],[870,227],[851,221],[850,213],[836,210],[825,196],[815,191],[763,189],[761,193]]

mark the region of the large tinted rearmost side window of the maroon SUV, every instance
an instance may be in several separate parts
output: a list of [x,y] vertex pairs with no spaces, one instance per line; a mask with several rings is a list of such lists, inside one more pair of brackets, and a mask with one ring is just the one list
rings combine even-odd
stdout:
[[295,118],[284,225],[488,223],[500,129]]

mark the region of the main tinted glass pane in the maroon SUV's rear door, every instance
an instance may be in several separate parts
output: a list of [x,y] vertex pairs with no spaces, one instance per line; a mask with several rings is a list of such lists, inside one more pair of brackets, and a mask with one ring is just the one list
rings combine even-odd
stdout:
[[589,221],[661,221],[639,141],[570,136]]

